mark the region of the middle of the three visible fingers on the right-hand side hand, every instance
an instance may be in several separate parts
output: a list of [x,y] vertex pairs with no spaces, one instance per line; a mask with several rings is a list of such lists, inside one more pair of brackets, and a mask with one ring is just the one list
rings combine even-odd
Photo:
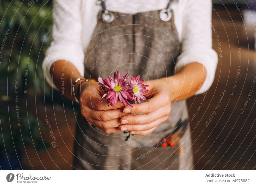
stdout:
[[170,112],[171,105],[166,105],[146,114],[130,114],[130,117],[122,117],[120,122],[121,124],[147,124],[169,115]]

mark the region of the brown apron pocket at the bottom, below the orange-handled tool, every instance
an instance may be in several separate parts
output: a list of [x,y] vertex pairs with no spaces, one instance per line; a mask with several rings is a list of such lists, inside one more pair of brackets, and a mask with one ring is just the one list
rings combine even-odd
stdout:
[[132,152],[132,170],[178,170],[180,146],[141,147]]

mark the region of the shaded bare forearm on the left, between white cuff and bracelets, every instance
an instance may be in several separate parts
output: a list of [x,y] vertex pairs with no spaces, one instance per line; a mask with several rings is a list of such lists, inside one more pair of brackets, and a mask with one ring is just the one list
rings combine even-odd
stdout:
[[81,78],[81,74],[74,64],[65,60],[58,60],[52,64],[50,73],[54,84],[61,94],[64,94],[64,96],[74,101],[72,96],[72,84],[77,78]]

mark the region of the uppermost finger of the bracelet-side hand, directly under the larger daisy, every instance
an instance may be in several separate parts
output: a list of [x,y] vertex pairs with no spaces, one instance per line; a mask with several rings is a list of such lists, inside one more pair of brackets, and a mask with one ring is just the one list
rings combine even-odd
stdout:
[[96,110],[111,110],[124,107],[124,104],[119,100],[116,105],[110,105],[107,103],[107,99],[102,98],[96,94],[90,94],[90,96],[83,97],[82,104],[87,105]]

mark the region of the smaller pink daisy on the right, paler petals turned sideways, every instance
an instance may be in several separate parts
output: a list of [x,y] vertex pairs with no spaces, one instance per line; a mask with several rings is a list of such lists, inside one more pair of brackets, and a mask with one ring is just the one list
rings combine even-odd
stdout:
[[140,99],[146,100],[146,97],[144,96],[148,92],[148,85],[143,84],[144,80],[140,80],[140,75],[133,77],[131,75],[128,85],[132,89],[132,97],[134,99],[135,104],[137,104],[137,101],[139,103]]

